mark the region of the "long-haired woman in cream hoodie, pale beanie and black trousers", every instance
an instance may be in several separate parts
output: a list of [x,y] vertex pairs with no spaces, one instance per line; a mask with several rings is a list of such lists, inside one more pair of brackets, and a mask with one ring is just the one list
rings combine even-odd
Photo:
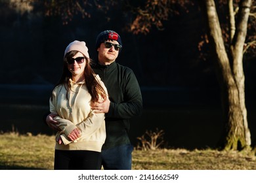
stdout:
[[91,102],[107,97],[106,87],[91,69],[83,41],[71,42],[64,52],[62,76],[50,99],[58,116],[54,169],[100,169],[100,151],[106,139],[104,113],[91,110]]

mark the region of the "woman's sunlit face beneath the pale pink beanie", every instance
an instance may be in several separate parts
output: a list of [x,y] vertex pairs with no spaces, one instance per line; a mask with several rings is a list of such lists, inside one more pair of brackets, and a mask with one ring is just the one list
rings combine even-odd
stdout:
[[[77,54],[75,54],[74,57],[72,57],[74,59],[78,59],[79,60],[73,60],[73,63],[68,63],[68,71],[70,71],[70,73],[72,73],[73,77],[77,77],[77,76],[83,76],[83,73],[85,71],[85,65],[86,65],[86,60],[83,56],[83,54],[81,54],[81,52],[77,52]],[[84,59],[81,59],[84,58]],[[79,61],[83,61],[83,63],[79,63]],[[78,62],[78,63],[77,63]]]

